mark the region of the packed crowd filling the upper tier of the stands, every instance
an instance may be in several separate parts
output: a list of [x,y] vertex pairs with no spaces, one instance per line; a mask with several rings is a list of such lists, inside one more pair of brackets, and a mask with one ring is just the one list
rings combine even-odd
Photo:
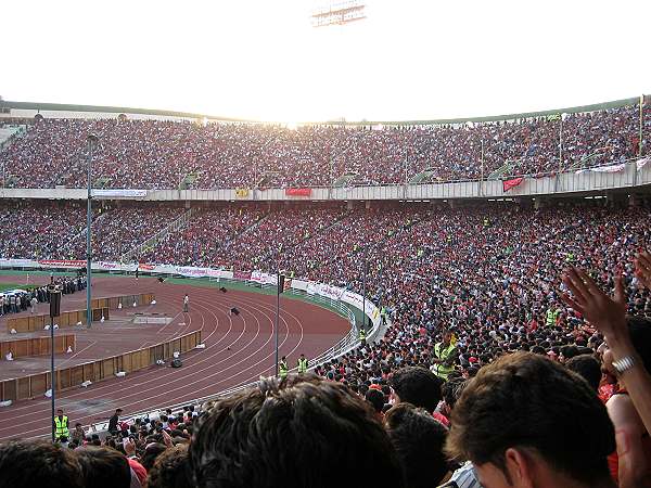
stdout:
[[[42,119],[0,153],[17,188],[86,187],[86,138],[97,133],[93,180],[107,188],[271,188],[395,184],[542,175],[639,155],[639,107],[495,123],[386,127]],[[644,107],[642,154],[651,134]]]

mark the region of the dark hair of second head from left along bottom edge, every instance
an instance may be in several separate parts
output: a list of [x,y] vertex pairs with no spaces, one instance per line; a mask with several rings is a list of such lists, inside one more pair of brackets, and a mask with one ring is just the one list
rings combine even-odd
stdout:
[[75,452],[87,487],[129,488],[131,485],[131,468],[123,453],[106,447],[87,447]]

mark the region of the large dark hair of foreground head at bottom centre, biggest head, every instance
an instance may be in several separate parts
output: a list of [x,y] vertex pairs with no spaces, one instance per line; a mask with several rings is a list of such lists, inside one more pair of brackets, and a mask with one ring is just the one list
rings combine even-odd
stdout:
[[[371,407],[314,374],[215,402],[190,445],[194,483],[208,487],[401,487],[398,459]],[[378,466],[382,466],[381,470]]]

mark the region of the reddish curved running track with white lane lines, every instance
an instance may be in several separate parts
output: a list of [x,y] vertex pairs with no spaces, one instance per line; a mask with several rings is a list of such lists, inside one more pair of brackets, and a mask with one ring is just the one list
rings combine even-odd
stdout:
[[[171,328],[177,329],[176,335],[201,330],[206,347],[183,355],[183,367],[179,369],[152,367],[123,378],[60,393],[56,408],[64,410],[71,425],[103,421],[116,408],[129,415],[189,402],[251,383],[260,375],[273,374],[276,296],[230,290],[222,294],[218,288],[157,284],[153,279],[142,278],[139,281],[122,277],[93,281],[104,282],[117,293],[135,293],[135,288],[141,293],[153,292],[158,304],[179,304],[179,309],[188,293],[190,312],[165,325],[163,336],[167,339]],[[240,314],[232,316],[231,307],[238,307]],[[329,310],[284,298],[279,324],[280,356],[286,356],[293,367],[298,355],[316,357],[336,344],[349,328],[345,319]],[[158,342],[156,337],[152,337],[154,342]],[[50,399],[43,397],[0,408],[0,440],[48,436],[50,406]]]

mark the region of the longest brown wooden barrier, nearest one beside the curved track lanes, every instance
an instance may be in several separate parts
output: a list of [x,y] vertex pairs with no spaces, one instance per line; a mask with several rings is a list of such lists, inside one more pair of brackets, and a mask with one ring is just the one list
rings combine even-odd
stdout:
[[[156,364],[159,359],[170,359],[175,351],[188,352],[199,344],[201,344],[201,331],[194,331],[144,349],[56,370],[56,390],[78,387],[86,381],[95,383],[115,377],[115,373],[119,371],[131,373],[142,370]],[[42,396],[50,389],[50,377],[49,372],[43,372],[0,382],[0,401]]]

